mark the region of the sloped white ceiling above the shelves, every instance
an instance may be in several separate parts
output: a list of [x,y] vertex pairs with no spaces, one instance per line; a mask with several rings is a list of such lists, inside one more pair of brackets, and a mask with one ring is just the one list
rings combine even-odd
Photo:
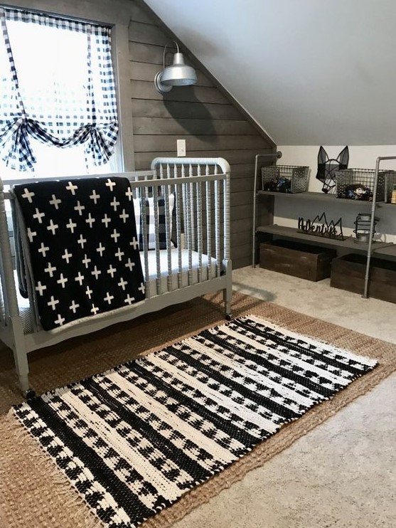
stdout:
[[396,144],[395,0],[145,0],[277,144]]

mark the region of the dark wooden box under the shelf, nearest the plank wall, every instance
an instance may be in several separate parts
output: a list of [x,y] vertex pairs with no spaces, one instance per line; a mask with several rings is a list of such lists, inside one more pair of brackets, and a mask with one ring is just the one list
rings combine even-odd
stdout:
[[330,277],[335,256],[335,250],[294,241],[260,244],[260,268],[315,282]]

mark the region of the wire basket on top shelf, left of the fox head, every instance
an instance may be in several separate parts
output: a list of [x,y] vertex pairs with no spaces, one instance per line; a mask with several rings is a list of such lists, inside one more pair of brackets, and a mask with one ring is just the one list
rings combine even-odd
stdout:
[[309,167],[274,165],[262,167],[262,190],[279,193],[304,193],[308,189]]

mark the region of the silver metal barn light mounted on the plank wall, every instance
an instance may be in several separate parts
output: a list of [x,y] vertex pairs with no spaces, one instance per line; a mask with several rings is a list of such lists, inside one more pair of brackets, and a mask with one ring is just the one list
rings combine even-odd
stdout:
[[184,63],[183,53],[180,53],[178,43],[175,41],[173,43],[177,50],[173,56],[173,64],[165,66],[166,53],[170,53],[166,45],[164,48],[164,69],[156,73],[154,77],[154,85],[159,93],[169,92],[173,86],[195,85],[197,82],[196,70]]

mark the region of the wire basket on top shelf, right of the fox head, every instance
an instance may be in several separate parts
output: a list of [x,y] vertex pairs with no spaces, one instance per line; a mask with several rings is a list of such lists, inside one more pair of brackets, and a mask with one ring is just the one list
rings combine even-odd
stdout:
[[[344,169],[335,172],[337,198],[372,201],[374,169]],[[378,173],[377,201],[385,197],[385,172]]]

